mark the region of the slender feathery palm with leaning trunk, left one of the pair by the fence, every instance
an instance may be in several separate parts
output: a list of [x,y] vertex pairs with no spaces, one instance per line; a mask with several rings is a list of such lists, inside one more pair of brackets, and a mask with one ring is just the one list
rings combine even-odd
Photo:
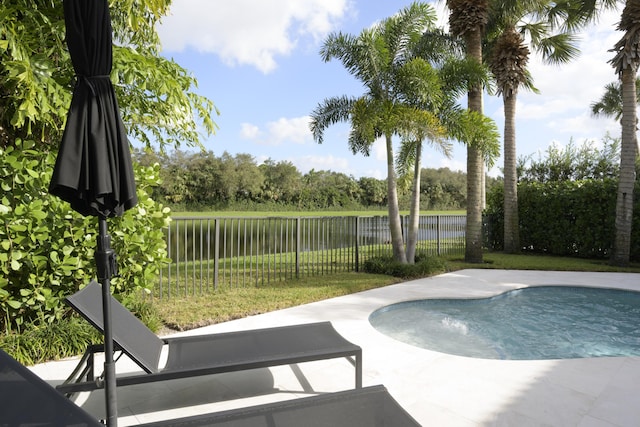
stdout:
[[[435,10],[427,4],[413,3],[398,14],[387,18],[359,36],[332,33],[325,40],[320,55],[325,62],[339,59],[345,68],[359,79],[366,93],[360,97],[325,99],[311,114],[314,139],[322,143],[324,130],[337,122],[351,123],[349,147],[352,152],[369,154],[373,142],[384,137],[387,151],[387,193],[389,229],[393,257],[406,263],[397,182],[394,168],[393,136],[407,123],[418,123],[419,109],[402,101],[397,77],[402,64],[418,43],[423,31],[434,27]],[[410,68],[403,72],[411,72]],[[416,76],[419,81],[420,77]]]

